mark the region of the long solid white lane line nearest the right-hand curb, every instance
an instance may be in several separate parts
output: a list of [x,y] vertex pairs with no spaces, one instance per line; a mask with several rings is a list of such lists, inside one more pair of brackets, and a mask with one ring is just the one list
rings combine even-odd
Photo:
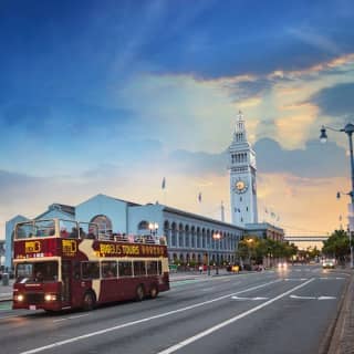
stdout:
[[206,331],[200,332],[199,334],[190,336],[189,339],[187,339],[187,340],[185,340],[185,341],[183,341],[180,343],[177,343],[177,344],[175,344],[175,345],[173,345],[173,346],[170,346],[170,347],[168,347],[168,348],[166,348],[166,350],[164,350],[164,351],[162,351],[162,352],[159,352],[157,354],[170,354],[170,353],[174,353],[176,351],[179,351],[181,347],[184,347],[184,346],[186,346],[186,345],[188,345],[188,344],[190,344],[192,342],[196,342],[196,341],[200,340],[201,337],[204,337],[206,335],[209,335],[209,334],[211,334],[211,333],[214,333],[214,332],[216,332],[216,331],[218,331],[218,330],[220,330],[220,329],[222,329],[222,327],[225,327],[225,326],[227,326],[227,325],[229,325],[229,324],[231,324],[231,323],[233,323],[233,322],[236,322],[238,320],[241,320],[241,319],[248,316],[249,314],[251,314],[251,313],[253,313],[253,312],[256,312],[258,310],[261,310],[261,309],[270,305],[274,301],[289,295],[290,293],[292,293],[293,291],[295,291],[295,290],[298,290],[300,288],[303,288],[303,287],[308,285],[313,280],[314,280],[314,278],[308,280],[306,282],[304,282],[304,283],[295,287],[295,288],[292,288],[292,289],[285,291],[284,293],[282,293],[282,294],[280,294],[280,295],[278,295],[278,296],[275,296],[275,298],[273,298],[271,300],[268,300],[267,302],[264,302],[264,303],[262,303],[262,304],[260,304],[260,305],[258,305],[258,306],[256,306],[253,309],[250,309],[250,310],[248,310],[248,311],[246,311],[246,312],[243,312],[243,313],[241,313],[241,314],[239,314],[239,315],[237,315],[237,316],[235,316],[232,319],[229,319],[229,320],[227,320],[225,322],[221,322],[221,323],[219,323],[219,324],[217,324],[217,325],[215,325],[215,326],[212,326],[212,327],[210,327],[210,329],[208,329]]

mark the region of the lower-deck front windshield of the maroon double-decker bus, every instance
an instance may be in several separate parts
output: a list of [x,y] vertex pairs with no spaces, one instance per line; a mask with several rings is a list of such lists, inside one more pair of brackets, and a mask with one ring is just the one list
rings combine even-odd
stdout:
[[17,283],[52,281],[58,281],[58,262],[25,262],[17,266]]

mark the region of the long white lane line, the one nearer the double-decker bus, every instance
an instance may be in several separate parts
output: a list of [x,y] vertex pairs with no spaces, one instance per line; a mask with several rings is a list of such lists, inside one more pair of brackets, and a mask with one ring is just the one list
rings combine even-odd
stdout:
[[212,303],[212,302],[216,302],[216,301],[220,301],[220,300],[223,300],[223,299],[228,299],[228,298],[230,298],[232,295],[241,294],[243,292],[248,292],[248,291],[257,290],[257,289],[260,289],[260,288],[264,288],[264,287],[278,283],[280,281],[281,281],[280,279],[277,279],[277,280],[270,281],[268,283],[263,283],[263,284],[260,284],[260,285],[256,285],[256,287],[252,287],[252,288],[240,290],[238,292],[235,292],[235,293],[231,293],[231,294],[227,294],[227,295],[222,295],[222,296],[219,296],[219,298],[216,298],[216,299],[211,299],[211,300],[207,300],[207,301],[204,301],[204,302],[199,302],[199,303],[196,303],[194,305],[189,305],[189,306],[186,306],[186,308],[168,311],[168,312],[165,312],[165,313],[157,314],[155,316],[145,317],[145,319],[140,319],[140,320],[136,320],[136,321],[118,324],[118,325],[116,325],[114,327],[104,329],[104,330],[101,330],[101,331],[96,331],[96,332],[79,335],[79,336],[72,337],[70,340],[64,340],[64,341],[55,342],[55,343],[52,343],[52,344],[49,344],[49,345],[40,346],[40,347],[33,348],[33,350],[24,351],[24,352],[22,352],[20,354],[39,353],[39,352],[43,352],[43,351],[46,351],[46,350],[50,350],[50,348],[53,348],[53,347],[58,347],[58,346],[62,346],[62,345],[65,345],[65,344],[73,343],[73,342],[77,342],[77,341],[82,341],[82,340],[85,340],[85,339],[90,339],[90,337],[95,336],[95,335],[101,335],[101,334],[105,334],[105,333],[108,333],[108,332],[117,331],[117,330],[121,330],[121,329],[124,329],[124,327],[128,327],[128,326],[132,326],[132,325],[135,325],[135,324],[148,322],[148,321],[156,320],[156,319],[167,317],[167,316],[169,316],[171,314],[175,314],[175,313],[185,312],[185,311],[189,311],[191,309],[200,308],[200,306],[204,306],[206,304],[209,304],[209,303]]

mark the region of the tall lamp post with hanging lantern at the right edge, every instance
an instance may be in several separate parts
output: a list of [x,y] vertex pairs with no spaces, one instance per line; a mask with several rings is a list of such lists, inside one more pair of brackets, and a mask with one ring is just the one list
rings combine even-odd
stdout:
[[[322,125],[320,140],[321,143],[326,143],[327,134],[326,129],[331,129],[334,132],[344,132],[347,135],[348,143],[350,143],[350,158],[351,158],[351,179],[352,179],[352,190],[346,195],[351,197],[351,208],[350,208],[350,250],[351,250],[351,268],[354,268],[353,263],[353,244],[352,244],[352,232],[354,231],[354,159],[353,159],[353,133],[354,133],[354,125],[348,123],[342,129],[334,129],[330,126]],[[341,197],[341,192],[337,192],[337,198]]]

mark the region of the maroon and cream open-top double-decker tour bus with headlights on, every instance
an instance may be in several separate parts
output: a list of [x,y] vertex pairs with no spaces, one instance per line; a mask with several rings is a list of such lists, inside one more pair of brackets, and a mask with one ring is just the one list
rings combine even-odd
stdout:
[[17,223],[13,309],[48,312],[169,290],[164,238],[100,233],[95,223],[61,219]]

